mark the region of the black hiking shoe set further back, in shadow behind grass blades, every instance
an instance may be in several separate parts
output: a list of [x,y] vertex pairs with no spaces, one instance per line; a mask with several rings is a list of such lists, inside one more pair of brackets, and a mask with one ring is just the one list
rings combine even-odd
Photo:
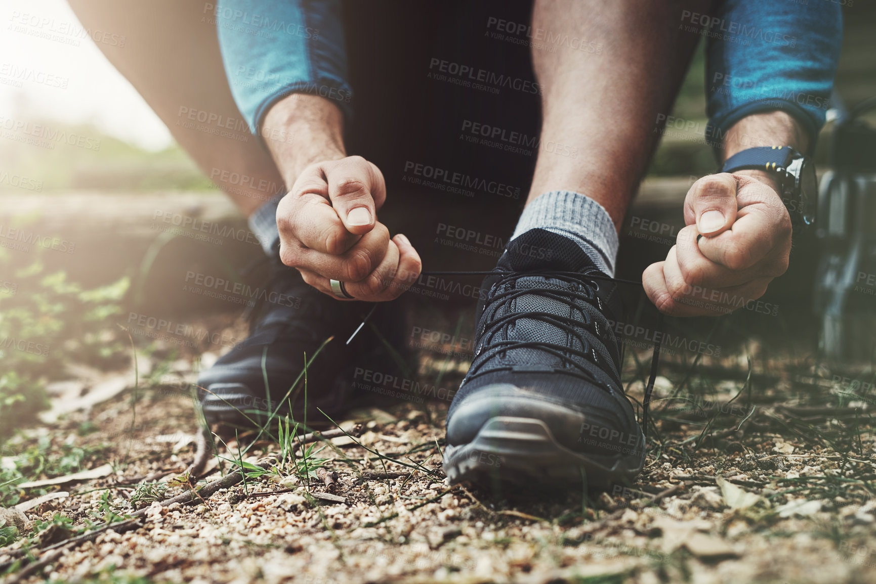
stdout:
[[[249,313],[250,336],[198,377],[198,397],[208,424],[263,426],[267,412],[274,411],[303,421],[304,376],[300,374],[305,354],[310,360],[331,336],[334,339],[307,367],[308,425],[328,421],[317,408],[334,418],[357,398],[352,364],[363,358],[367,334],[360,332],[350,346],[344,343],[373,305],[331,299],[307,285],[279,257],[269,262],[270,278],[255,292],[258,301]],[[373,347],[375,340],[369,341]],[[296,380],[292,394],[283,399]]]

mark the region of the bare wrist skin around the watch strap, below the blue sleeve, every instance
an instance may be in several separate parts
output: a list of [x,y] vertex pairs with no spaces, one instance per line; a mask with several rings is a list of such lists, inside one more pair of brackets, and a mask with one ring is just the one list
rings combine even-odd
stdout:
[[[758,146],[790,146],[796,151],[805,152],[809,149],[809,137],[802,124],[783,111],[746,116],[734,123],[724,135],[722,162],[738,151]],[[747,170],[736,174],[767,183],[781,195],[773,172]]]

